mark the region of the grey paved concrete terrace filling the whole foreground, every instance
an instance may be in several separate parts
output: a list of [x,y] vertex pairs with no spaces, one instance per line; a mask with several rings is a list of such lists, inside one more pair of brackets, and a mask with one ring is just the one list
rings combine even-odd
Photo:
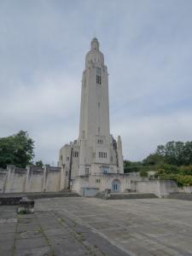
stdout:
[[192,255],[192,201],[36,201],[35,213],[0,207],[0,255]]

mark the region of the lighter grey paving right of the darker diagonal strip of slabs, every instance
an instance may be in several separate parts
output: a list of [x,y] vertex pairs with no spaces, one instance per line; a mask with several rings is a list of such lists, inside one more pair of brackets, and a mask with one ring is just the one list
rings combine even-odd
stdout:
[[[83,234],[90,247],[102,238],[98,239],[102,253],[106,242],[106,247],[112,244],[126,255],[192,255],[191,202],[143,199],[103,203],[96,198],[67,198],[55,199],[51,207],[47,201],[38,201],[37,207],[64,219],[71,229]],[[88,230],[79,230],[79,226]],[[109,248],[108,253],[112,255]]]

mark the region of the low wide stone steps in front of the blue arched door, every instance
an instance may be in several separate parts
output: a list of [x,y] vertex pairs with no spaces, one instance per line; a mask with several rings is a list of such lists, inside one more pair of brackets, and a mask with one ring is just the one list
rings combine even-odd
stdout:
[[96,194],[96,198],[105,200],[119,200],[119,199],[147,199],[147,198],[158,198],[153,193],[109,193],[99,192]]

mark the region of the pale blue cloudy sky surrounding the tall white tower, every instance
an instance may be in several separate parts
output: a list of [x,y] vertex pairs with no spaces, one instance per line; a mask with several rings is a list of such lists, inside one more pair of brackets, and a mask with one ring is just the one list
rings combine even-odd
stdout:
[[192,141],[191,0],[0,0],[0,137],[28,131],[35,160],[56,165],[79,136],[84,56],[95,36],[124,158]]

